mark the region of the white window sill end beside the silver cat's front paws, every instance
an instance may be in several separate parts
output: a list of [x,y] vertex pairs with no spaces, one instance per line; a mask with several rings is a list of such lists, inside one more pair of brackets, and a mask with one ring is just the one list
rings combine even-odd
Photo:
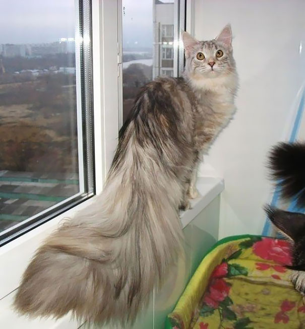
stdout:
[[198,177],[197,190],[200,196],[191,200],[192,208],[181,211],[182,227],[185,228],[213,199],[224,190],[224,180],[219,177]]

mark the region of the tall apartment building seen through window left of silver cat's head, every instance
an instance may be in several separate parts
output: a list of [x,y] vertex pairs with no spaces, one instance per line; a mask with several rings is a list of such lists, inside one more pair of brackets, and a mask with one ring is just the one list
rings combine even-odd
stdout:
[[154,0],[153,78],[173,76],[174,4]]

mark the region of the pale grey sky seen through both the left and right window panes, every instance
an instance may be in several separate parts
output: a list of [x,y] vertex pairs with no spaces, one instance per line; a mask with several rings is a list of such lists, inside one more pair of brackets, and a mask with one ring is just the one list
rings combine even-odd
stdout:
[[[153,1],[123,0],[124,48],[152,47]],[[0,44],[74,37],[75,0],[0,0],[0,8]]]

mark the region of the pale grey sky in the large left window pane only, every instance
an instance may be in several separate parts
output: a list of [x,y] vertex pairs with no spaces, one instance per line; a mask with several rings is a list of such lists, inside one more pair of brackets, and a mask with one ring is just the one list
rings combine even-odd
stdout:
[[74,0],[0,0],[0,43],[43,43],[75,35]]

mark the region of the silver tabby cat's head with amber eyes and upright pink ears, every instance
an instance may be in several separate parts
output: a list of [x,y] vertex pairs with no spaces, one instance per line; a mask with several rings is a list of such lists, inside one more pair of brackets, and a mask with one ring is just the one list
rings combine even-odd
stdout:
[[182,33],[186,68],[191,80],[214,79],[236,75],[232,54],[232,31],[226,25],[213,40],[198,41],[188,32]]

